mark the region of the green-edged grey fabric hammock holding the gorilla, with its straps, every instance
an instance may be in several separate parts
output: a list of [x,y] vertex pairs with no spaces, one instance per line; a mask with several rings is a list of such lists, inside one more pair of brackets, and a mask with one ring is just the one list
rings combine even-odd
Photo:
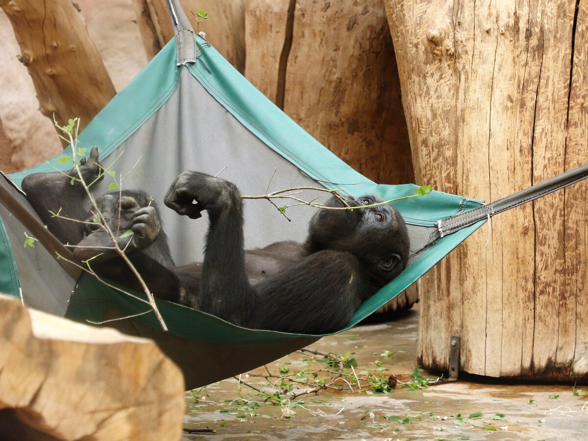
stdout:
[[[163,206],[179,173],[198,170],[235,182],[243,194],[298,186],[338,189],[385,199],[415,194],[416,185],[379,185],[354,171],[303,131],[195,35],[177,0],[168,0],[177,31],[159,54],[92,120],[79,145],[98,146],[103,165],[126,175],[123,188],[143,189],[161,207],[163,228],[179,265],[202,259],[206,219],[191,220]],[[89,150],[88,150],[89,151]],[[55,252],[69,251],[41,224],[20,185],[34,172],[66,171],[68,148],[49,163],[0,179],[0,292],[25,305],[79,322],[128,317],[145,303],[103,285]],[[274,172],[275,171],[275,172]],[[415,282],[490,216],[588,176],[588,165],[492,204],[433,191],[394,203],[409,228],[413,251],[400,276],[363,303],[344,329],[380,308]],[[108,192],[104,179],[93,192]],[[58,208],[56,208],[58,209]],[[288,222],[267,201],[245,203],[245,246],[302,241],[315,209],[288,209]],[[25,233],[38,239],[23,246]],[[141,293],[135,293],[141,297]],[[155,340],[183,370],[186,387],[236,375],[309,345],[322,335],[244,329],[175,303],[157,300],[169,332],[153,313],[109,323],[122,332]],[[328,311],[325,311],[328,314]],[[341,329],[341,330],[344,330]],[[339,331],[338,331],[339,332]]]

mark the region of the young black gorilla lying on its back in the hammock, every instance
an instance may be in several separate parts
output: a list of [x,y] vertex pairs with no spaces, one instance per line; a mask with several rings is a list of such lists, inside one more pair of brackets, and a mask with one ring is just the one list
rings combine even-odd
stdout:
[[[99,174],[93,148],[81,171],[86,183]],[[108,234],[85,211],[87,199],[75,169],[35,173],[22,188],[49,230],[65,244],[77,244],[74,256],[93,259],[92,269],[129,288],[138,281],[111,247]],[[381,202],[377,196],[349,198],[350,206]],[[184,172],[165,196],[165,205],[191,219],[208,211],[203,262],[173,263],[159,213],[141,191],[108,193],[97,200],[103,217],[119,232],[119,245],[153,295],[190,306],[239,326],[296,333],[327,333],[347,325],[360,303],[399,275],[409,255],[404,220],[396,209],[380,205],[353,210],[320,209],[305,243],[276,242],[243,250],[242,198],[235,185],[199,172]],[[195,203],[194,203],[195,202]],[[326,204],[342,207],[338,198]],[[49,211],[71,219],[56,218]],[[132,236],[124,235],[129,229]],[[121,237],[125,236],[125,237]],[[130,243],[129,243],[130,240]]]

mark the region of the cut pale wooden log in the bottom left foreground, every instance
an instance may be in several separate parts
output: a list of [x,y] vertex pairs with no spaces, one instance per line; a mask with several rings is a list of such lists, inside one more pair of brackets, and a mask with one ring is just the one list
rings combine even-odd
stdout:
[[0,311],[2,439],[179,439],[183,376],[152,340],[6,296]]

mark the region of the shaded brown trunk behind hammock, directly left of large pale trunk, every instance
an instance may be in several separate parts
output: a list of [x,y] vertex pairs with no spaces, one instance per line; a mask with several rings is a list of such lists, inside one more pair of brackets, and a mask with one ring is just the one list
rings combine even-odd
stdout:
[[296,1],[284,111],[360,173],[393,184],[413,181],[395,72],[381,1]]

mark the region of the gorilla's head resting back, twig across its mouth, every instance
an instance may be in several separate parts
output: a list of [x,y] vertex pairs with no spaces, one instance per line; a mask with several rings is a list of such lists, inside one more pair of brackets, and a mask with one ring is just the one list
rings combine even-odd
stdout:
[[[320,209],[310,220],[306,245],[316,252],[323,249],[347,251],[355,255],[376,280],[387,283],[402,272],[409,257],[406,223],[391,205],[375,195],[346,196],[346,210]],[[333,196],[328,207],[343,208]],[[366,208],[363,208],[367,206]]]

